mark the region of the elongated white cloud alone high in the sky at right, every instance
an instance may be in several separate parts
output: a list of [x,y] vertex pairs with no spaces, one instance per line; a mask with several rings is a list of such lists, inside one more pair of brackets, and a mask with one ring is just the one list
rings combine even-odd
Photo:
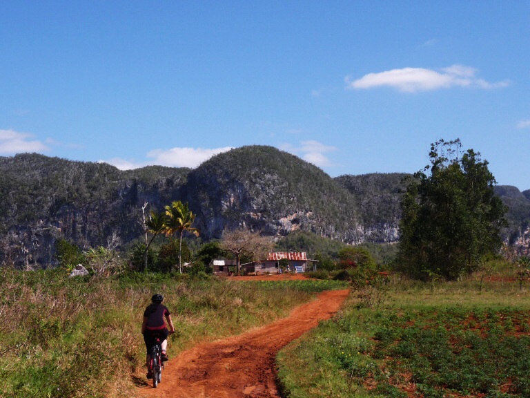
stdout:
[[477,70],[469,66],[453,65],[439,72],[424,68],[402,68],[369,73],[360,79],[346,77],[346,88],[362,89],[390,86],[406,93],[436,90],[450,87],[498,88],[509,85],[508,81],[489,83],[475,77]]

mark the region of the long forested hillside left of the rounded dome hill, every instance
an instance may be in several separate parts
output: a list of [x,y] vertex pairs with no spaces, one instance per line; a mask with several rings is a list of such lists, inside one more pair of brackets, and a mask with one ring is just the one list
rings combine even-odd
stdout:
[[0,158],[0,262],[52,263],[58,238],[80,247],[106,245],[112,235],[121,243],[138,238],[144,201],[181,196],[188,172],[119,171],[37,154]]

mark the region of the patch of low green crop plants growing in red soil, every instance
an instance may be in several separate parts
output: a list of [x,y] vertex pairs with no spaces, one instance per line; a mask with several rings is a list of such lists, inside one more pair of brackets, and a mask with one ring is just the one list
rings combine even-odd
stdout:
[[475,395],[511,381],[511,392],[527,396],[530,339],[511,334],[529,321],[528,313],[505,309],[482,315],[455,307],[388,317],[374,334],[372,357],[385,359],[382,368],[422,383],[419,392]]

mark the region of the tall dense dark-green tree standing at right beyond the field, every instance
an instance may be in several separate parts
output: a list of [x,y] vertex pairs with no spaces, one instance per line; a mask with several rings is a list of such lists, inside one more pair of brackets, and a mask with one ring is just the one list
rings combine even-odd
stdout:
[[397,267],[420,279],[455,279],[478,269],[502,246],[506,211],[488,162],[460,140],[431,144],[431,164],[414,174],[402,198]]

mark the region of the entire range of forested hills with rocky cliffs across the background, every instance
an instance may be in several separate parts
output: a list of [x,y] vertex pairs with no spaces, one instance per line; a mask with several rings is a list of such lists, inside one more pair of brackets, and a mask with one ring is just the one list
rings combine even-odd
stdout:
[[[193,170],[120,171],[35,153],[3,157],[0,263],[54,263],[59,238],[81,248],[105,246],[112,236],[130,244],[141,239],[144,203],[159,211],[173,200],[189,203],[203,240],[242,226],[269,236],[300,230],[346,243],[396,242],[406,176],[331,178],[271,146],[233,149]],[[495,189],[509,207],[504,234],[520,243],[530,225],[530,191]]]

